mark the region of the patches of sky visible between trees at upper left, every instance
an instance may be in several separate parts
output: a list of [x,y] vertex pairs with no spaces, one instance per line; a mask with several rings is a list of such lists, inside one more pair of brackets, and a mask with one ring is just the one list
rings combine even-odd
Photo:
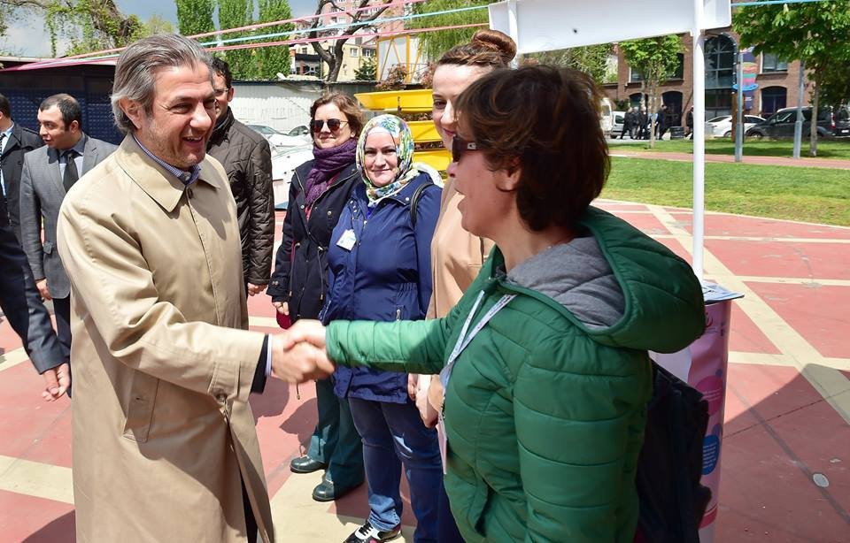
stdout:
[[[144,20],[157,14],[163,19],[170,20],[174,27],[177,27],[177,8],[174,0],[145,0],[144,2],[117,0],[117,4],[125,15],[135,13]],[[290,9],[293,17],[313,14],[316,11],[316,1],[290,0]],[[50,40],[44,21],[35,17],[16,21],[9,27],[5,38],[0,41],[0,47],[23,57],[49,57]],[[59,54],[63,52],[61,44],[58,50]]]

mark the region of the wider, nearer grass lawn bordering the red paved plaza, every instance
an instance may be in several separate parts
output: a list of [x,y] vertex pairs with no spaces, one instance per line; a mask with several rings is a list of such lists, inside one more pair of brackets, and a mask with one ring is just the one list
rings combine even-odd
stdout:
[[[601,197],[691,208],[692,194],[690,163],[613,157]],[[706,209],[850,226],[850,172],[709,163]]]

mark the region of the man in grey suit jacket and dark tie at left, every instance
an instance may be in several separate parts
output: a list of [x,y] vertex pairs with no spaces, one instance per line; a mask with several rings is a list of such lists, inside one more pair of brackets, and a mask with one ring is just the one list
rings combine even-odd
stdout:
[[38,123],[46,147],[24,155],[20,174],[20,241],[35,287],[42,298],[53,300],[56,331],[66,362],[71,357],[71,285],[56,250],[59,206],[85,172],[117,149],[112,143],[84,134],[81,120],[80,104],[73,96],[45,98],[38,108]]

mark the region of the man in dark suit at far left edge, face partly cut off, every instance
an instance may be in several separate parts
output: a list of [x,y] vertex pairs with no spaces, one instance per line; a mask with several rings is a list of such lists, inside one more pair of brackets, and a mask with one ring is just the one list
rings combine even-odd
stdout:
[[20,241],[18,195],[20,192],[20,169],[24,154],[42,147],[44,142],[35,132],[12,121],[9,99],[0,95],[0,215],[9,218],[12,230]]

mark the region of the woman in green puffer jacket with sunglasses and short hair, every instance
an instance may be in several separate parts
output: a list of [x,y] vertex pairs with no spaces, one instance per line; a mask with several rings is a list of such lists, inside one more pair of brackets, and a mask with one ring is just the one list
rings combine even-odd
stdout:
[[442,319],[291,330],[337,364],[440,373],[445,488],[469,542],[632,541],[647,350],[703,331],[690,266],[590,207],[608,172],[598,103],[574,71],[475,81],[448,172],[463,227],[496,249],[467,293]]

